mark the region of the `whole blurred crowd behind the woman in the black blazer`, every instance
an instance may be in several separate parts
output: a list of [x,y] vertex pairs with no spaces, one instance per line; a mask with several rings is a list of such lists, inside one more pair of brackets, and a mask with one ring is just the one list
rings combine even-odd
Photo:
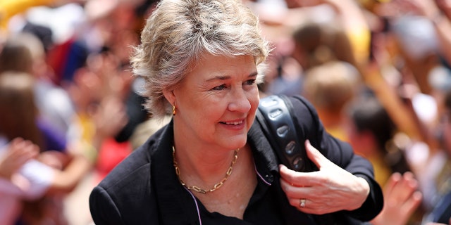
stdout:
[[[368,158],[371,224],[451,224],[451,1],[242,0],[273,51],[261,97],[300,94]],[[132,47],[156,0],[0,0],[0,223],[91,224],[89,191],[167,120]]]

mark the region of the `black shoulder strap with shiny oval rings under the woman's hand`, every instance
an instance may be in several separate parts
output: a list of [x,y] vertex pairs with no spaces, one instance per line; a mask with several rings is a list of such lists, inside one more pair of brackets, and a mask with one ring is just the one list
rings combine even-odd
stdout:
[[299,140],[287,96],[271,95],[260,99],[257,120],[264,129],[280,162],[298,172],[311,171],[304,140]]

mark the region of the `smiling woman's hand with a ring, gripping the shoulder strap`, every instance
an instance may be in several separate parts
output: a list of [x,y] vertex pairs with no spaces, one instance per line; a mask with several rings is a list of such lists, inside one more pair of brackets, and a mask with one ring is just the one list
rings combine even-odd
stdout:
[[305,142],[307,156],[319,168],[316,172],[295,172],[280,165],[280,183],[290,205],[309,214],[356,210],[369,195],[369,184],[330,162]]

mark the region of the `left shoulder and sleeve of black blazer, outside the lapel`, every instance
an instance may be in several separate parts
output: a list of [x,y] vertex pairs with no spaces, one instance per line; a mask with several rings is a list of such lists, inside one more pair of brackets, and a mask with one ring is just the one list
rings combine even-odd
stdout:
[[92,190],[89,207],[94,221],[98,224],[121,224],[119,221],[159,224],[151,168],[158,164],[158,155],[164,150],[161,145],[171,139],[171,134],[171,129],[156,131]]

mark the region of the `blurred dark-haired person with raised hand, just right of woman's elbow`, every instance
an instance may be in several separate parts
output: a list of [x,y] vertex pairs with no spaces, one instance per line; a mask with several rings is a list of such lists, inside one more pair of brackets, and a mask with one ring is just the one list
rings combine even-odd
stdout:
[[383,186],[384,208],[371,223],[419,223],[424,213],[422,194],[405,155],[402,139],[406,134],[397,129],[383,105],[371,94],[352,101],[347,115],[351,146],[356,154],[373,164],[376,181]]

